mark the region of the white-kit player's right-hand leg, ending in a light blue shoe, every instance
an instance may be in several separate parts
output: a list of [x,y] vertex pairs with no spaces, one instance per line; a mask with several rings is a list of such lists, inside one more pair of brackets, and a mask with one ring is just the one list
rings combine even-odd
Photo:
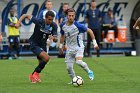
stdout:
[[88,73],[89,79],[93,80],[94,79],[93,71],[90,70],[87,63],[83,61],[83,52],[84,52],[84,48],[78,49],[75,57],[76,63]]

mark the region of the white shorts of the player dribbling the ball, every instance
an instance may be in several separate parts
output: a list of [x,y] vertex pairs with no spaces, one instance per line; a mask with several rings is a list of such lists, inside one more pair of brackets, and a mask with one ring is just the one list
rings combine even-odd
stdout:
[[68,49],[65,56],[65,62],[75,62],[75,58],[83,57],[84,48],[78,47],[75,49]]

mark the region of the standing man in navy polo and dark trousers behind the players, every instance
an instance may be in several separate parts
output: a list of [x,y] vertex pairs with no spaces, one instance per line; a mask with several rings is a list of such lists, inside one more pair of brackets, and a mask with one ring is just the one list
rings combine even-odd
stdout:
[[[100,45],[99,42],[101,39],[100,20],[101,20],[101,12],[99,9],[96,8],[96,1],[92,0],[90,2],[90,8],[86,11],[85,21],[88,23],[88,27],[92,29],[92,31],[94,32],[98,45]],[[87,34],[87,49],[86,49],[87,56],[91,56],[90,53],[91,41],[92,39],[90,38],[90,35]],[[97,50],[97,57],[99,56],[100,51]]]

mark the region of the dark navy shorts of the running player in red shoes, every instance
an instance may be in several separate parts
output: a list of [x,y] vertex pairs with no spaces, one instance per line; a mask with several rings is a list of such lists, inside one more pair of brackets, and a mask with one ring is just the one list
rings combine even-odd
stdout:
[[30,49],[31,49],[31,51],[36,56],[39,56],[42,51],[45,51],[46,52],[46,47],[45,46],[39,46],[36,43],[31,42],[31,41],[29,43],[30,43]]

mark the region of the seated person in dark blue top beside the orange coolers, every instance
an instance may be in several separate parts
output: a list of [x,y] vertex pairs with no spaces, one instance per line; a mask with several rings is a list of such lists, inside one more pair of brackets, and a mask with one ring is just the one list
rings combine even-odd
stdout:
[[115,40],[118,42],[118,29],[117,29],[117,22],[113,15],[113,10],[111,8],[108,9],[108,12],[104,15],[102,19],[103,30],[104,30],[104,42],[107,42],[107,33],[108,30],[114,30],[115,32]]

